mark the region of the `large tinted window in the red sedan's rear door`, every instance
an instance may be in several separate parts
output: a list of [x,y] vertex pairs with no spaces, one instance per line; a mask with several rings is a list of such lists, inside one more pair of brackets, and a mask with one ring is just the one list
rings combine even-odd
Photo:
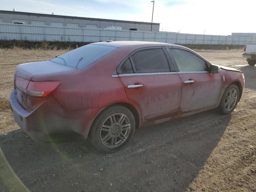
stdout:
[[170,66],[162,48],[140,50],[131,57],[136,73],[170,72]]

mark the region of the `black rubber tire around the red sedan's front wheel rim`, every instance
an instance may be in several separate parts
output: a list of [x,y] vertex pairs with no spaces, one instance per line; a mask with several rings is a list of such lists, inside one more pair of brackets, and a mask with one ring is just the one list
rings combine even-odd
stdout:
[[[228,97],[228,94],[230,92],[230,90],[236,90],[236,94],[237,94],[237,97],[236,97],[236,102],[234,104],[230,104],[230,106],[232,107],[230,110],[228,110],[228,106],[225,106],[225,103],[227,103],[227,97]],[[230,114],[232,111],[234,111],[234,109],[236,108],[237,104],[238,104],[238,101],[239,101],[239,96],[240,96],[240,93],[239,93],[239,88],[237,85],[235,84],[231,84],[230,86],[228,86],[228,88],[226,89],[226,91],[224,92],[222,98],[221,98],[221,101],[220,101],[220,104],[218,106],[218,111],[221,113],[221,114]]]

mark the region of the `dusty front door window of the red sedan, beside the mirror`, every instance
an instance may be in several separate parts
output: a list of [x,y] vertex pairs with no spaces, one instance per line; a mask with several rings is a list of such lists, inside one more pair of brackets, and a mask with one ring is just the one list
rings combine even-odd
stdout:
[[182,50],[170,48],[180,72],[207,71],[206,62],[195,54]]

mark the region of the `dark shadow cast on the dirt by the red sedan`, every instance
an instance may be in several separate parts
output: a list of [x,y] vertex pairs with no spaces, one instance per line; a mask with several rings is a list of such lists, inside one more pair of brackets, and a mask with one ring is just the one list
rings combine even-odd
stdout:
[[12,131],[0,136],[0,189],[186,191],[229,122],[230,115],[210,110],[143,128],[114,154],[101,154],[88,141],[38,143]]

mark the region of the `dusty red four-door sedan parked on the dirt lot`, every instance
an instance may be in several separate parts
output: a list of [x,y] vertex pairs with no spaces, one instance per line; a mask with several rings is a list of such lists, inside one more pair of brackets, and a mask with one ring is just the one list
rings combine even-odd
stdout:
[[31,138],[90,138],[110,153],[135,128],[213,108],[232,112],[244,75],[184,46],[108,41],[18,65],[14,86],[14,119]]

